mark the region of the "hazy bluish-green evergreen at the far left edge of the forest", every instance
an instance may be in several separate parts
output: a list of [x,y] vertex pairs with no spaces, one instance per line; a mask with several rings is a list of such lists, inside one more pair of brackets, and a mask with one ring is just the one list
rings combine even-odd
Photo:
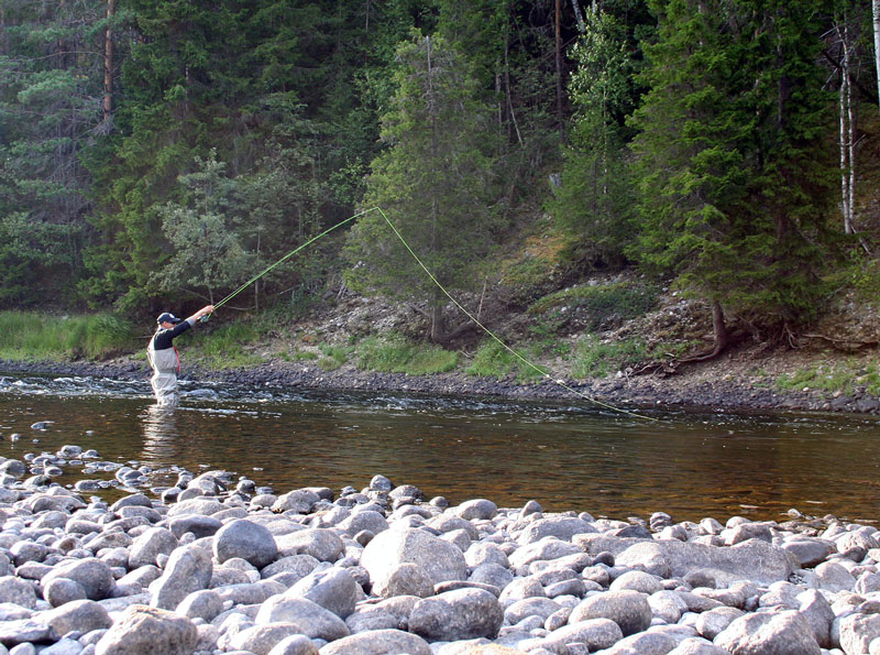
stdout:
[[0,305],[63,302],[89,238],[79,156],[102,128],[106,3],[0,9]]

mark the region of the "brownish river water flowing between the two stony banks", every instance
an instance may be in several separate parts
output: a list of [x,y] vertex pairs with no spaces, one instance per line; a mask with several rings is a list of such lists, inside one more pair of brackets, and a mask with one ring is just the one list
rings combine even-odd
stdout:
[[[382,473],[452,503],[537,500],[547,511],[620,520],[656,511],[675,521],[784,520],[792,507],[880,520],[872,417],[667,410],[648,421],[580,401],[184,390],[168,412],[155,407],[146,381],[0,373],[0,456],[76,444],[102,460],[150,467],[157,487],[176,480],[175,466],[233,471],[276,493],[360,489]],[[36,422],[52,423],[41,430]],[[82,478],[65,470],[62,484]]]

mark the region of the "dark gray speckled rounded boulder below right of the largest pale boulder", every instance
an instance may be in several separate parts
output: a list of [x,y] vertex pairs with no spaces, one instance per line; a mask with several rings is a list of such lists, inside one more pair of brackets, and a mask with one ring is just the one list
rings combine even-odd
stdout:
[[417,602],[409,631],[429,641],[495,638],[503,621],[495,596],[483,589],[457,589]]

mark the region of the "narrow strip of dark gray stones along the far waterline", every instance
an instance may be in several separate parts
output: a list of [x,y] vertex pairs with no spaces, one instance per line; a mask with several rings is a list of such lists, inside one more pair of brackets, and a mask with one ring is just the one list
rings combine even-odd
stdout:
[[[0,360],[0,370],[41,375],[78,375],[118,380],[147,380],[150,371],[143,362],[116,360],[95,362],[15,362]],[[182,380],[191,382],[223,382],[242,386],[272,385],[278,387],[361,390],[431,393],[443,395],[483,395],[507,399],[568,400],[601,403],[627,408],[676,406],[713,410],[790,410],[810,412],[843,412],[880,415],[880,397],[865,391],[851,394],[829,393],[805,389],[780,391],[766,381],[746,376],[714,375],[698,371],[689,375],[660,378],[654,375],[618,376],[578,381],[563,380],[572,393],[552,380],[520,384],[512,379],[475,378],[463,373],[406,375],[376,373],[344,365],[323,371],[316,365],[274,361],[248,369],[209,370],[187,367]],[[581,394],[581,395],[579,395]]]

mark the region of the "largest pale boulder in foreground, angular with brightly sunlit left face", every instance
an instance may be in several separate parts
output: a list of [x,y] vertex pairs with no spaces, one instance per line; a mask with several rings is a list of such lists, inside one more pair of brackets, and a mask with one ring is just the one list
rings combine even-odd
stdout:
[[468,564],[461,549],[424,530],[386,530],[361,555],[361,566],[374,585],[382,583],[404,563],[418,565],[435,585],[468,579]]

